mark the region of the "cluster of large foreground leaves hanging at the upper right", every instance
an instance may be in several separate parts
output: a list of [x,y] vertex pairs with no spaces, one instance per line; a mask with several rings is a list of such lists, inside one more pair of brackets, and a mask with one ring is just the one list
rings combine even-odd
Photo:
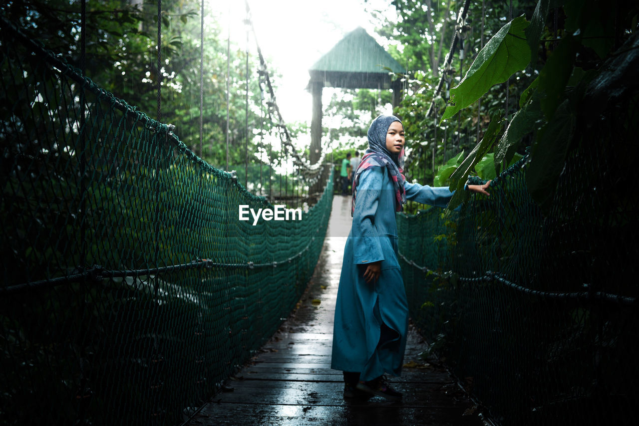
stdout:
[[[557,38],[545,42],[541,38],[550,36],[546,22],[551,10],[562,13],[564,19],[553,24],[557,25],[553,28]],[[503,135],[493,124],[497,119],[493,117],[482,141],[450,176],[450,188],[461,188],[468,172],[490,152],[497,138],[495,171],[511,163],[521,141],[528,138],[532,141],[528,190],[542,208],[548,208],[569,146],[576,137],[581,103],[587,96],[589,82],[597,75],[587,69],[594,66],[601,69],[603,63],[613,61],[610,53],[615,42],[620,47],[630,37],[631,21],[636,16],[636,6],[630,7],[624,1],[603,7],[594,0],[562,3],[539,0],[530,26],[523,16],[502,26],[479,52],[465,78],[451,89],[455,103],[447,108],[442,122],[486,96],[494,84],[512,80],[520,70],[532,67],[538,77],[521,93],[521,109],[509,121]],[[624,18],[620,21],[620,17]],[[540,40],[543,49],[537,49]],[[540,50],[543,55],[537,61]],[[486,164],[482,169],[488,170]],[[450,207],[457,204],[458,200],[454,201]]]

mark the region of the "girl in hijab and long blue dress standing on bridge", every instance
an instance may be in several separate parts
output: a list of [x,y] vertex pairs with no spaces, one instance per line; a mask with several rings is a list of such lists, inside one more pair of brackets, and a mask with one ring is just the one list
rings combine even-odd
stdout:
[[[408,330],[395,212],[406,200],[444,208],[452,192],[406,182],[404,127],[397,117],[374,119],[367,137],[369,148],[353,171],[353,224],[337,291],[331,367],[344,372],[345,399],[400,400],[384,377],[401,374]],[[488,185],[467,188],[488,195]]]

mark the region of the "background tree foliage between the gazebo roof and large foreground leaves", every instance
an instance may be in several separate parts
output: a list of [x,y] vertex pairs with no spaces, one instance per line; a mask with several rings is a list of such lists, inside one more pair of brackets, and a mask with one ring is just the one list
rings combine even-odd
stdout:
[[[536,1],[513,0],[510,4],[512,15],[532,15]],[[371,12],[380,22],[379,33],[390,39],[390,54],[409,69],[408,77],[404,79],[403,102],[395,110],[404,123],[410,148],[405,172],[411,180],[431,183],[443,164],[460,153],[467,153],[481,140],[488,129],[490,117],[498,110],[508,107],[508,114],[514,112],[516,104],[512,100],[518,98],[520,91],[536,75],[528,68],[507,84],[493,86],[482,96],[481,105],[475,103],[471,108],[459,110],[454,118],[441,121],[447,106],[447,87],[459,85],[473,57],[485,45],[485,40],[495,36],[507,22],[509,2],[470,2],[466,26],[461,31],[463,43],[458,41],[450,68],[444,68],[443,61],[450,48],[462,3],[400,0],[390,1],[389,6],[396,8],[399,17],[397,22],[390,18],[393,14],[388,8],[380,6]],[[523,18],[516,22],[520,21],[525,24]],[[523,38],[523,34],[518,36]],[[508,38],[517,45],[520,42],[525,44],[524,40],[512,35]],[[459,55],[462,45],[465,59],[460,59]],[[442,75],[442,93],[435,93]],[[525,86],[521,87],[522,83]],[[507,102],[507,98],[510,102]],[[429,110],[431,114],[427,116]],[[527,140],[518,141],[512,149],[523,153],[525,146]]]

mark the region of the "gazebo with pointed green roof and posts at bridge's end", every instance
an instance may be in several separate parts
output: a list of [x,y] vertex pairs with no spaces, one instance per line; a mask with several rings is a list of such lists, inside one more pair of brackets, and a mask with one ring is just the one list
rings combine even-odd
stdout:
[[401,101],[401,81],[392,73],[406,73],[406,68],[390,56],[362,27],[346,34],[327,54],[319,58],[309,74],[307,89],[312,94],[311,162],[321,152],[321,93],[323,87],[346,89],[392,89],[393,108]]

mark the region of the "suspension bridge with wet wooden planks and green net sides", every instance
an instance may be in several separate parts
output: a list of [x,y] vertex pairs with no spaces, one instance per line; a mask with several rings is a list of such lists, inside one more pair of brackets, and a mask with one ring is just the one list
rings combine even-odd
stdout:
[[[327,361],[350,199],[334,196],[321,103],[305,158],[259,52],[282,148],[277,158],[259,148],[280,167],[260,167],[249,191],[248,165],[242,183],[174,126],[0,25],[3,423],[631,422],[638,294],[622,283],[636,263],[638,203],[619,188],[624,155],[571,148],[550,211],[528,194],[525,156],[489,199],[398,213],[413,321],[397,381],[407,396],[352,405]],[[325,75],[346,87],[395,84],[362,73],[370,79]],[[323,84],[311,73],[312,93]],[[301,209],[300,220],[238,220],[240,205],[279,204]]]

